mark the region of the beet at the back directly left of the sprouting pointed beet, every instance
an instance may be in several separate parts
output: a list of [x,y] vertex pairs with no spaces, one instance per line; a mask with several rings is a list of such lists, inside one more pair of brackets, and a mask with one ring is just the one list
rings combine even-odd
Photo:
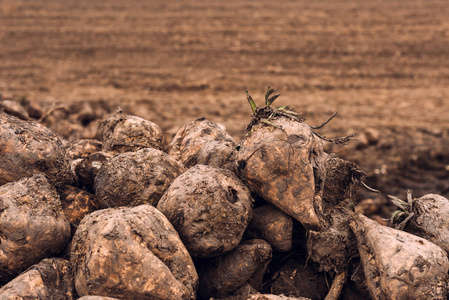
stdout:
[[236,145],[217,124],[200,118],[187,123],[176,133],[168,153],[187,168],[200,164],[233,170]]

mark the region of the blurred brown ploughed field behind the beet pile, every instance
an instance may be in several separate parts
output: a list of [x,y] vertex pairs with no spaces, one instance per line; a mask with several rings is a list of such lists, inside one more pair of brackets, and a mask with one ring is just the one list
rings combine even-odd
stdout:
[[320,132],[361,142],[326,147],[381,197],[449,196],[448,16],[447,0],[1,0],[0,93],[120,106],[168,140],[206,116],[241,140],[244,90],[262,105],[270,85],[311,125],[339,113]]

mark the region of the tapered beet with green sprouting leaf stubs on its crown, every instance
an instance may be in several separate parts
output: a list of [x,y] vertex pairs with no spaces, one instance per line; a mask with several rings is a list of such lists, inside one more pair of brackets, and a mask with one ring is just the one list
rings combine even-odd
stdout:
[[237,172],[266,201],[319,230],[324,151],[311,127],[287,117],[259,123],[243,140]]

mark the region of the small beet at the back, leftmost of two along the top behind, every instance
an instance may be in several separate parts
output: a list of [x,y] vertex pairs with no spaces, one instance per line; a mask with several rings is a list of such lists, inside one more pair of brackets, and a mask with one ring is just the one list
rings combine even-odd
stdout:
[[143,148],[164,150],[164,133],[155,123],[123,113],[120,109],[100,122],[103,151],[119,153]]

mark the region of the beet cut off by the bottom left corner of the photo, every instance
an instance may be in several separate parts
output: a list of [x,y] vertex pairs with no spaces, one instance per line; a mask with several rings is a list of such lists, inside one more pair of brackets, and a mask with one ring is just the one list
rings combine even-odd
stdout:
[[70,262],[46,258],[0,289],[0,299],[75,299]]

